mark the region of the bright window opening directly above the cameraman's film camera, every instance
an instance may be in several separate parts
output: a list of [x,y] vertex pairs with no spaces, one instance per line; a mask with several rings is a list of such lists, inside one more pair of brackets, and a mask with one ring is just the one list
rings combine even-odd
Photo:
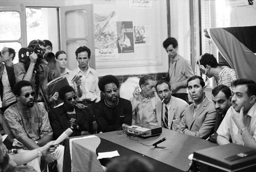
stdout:
[[50,40],[53,52],[58,51],[58,24],[56,8],[26,8],[27,45],[31,40]]

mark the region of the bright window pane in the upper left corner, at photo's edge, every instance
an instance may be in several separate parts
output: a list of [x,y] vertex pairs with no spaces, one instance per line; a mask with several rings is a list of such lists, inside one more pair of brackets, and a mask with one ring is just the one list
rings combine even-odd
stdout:
[[21,17],[18,11],[0,11],[0,40],[19,40]]

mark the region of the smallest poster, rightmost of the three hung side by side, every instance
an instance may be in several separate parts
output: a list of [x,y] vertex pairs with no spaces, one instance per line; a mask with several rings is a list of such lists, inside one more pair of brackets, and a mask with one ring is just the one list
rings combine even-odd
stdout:
[[149,25],[134,26],[134,46],[149,46]]

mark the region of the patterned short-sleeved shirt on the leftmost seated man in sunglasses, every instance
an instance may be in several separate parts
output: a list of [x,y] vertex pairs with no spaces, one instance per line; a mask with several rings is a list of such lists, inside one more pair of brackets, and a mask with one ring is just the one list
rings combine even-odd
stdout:
[[44,135],[53,135],[48,113],[38,103],[34,103],[27,111],[20,109],[15,103],[3,115],[15,138],[27,135],[32,140],[38,140]]

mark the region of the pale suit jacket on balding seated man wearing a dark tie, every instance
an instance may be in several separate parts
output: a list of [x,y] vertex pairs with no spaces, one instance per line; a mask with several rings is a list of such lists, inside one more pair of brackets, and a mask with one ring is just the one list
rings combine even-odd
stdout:
[[[183,117],[183,112],[188,107],[188,103],[174,96],[171,97],[170,103],[171,103],[171,108],[169,110],[170,111],[169,119],[172,119],[170,121],[171,122],[170,125],[171,125],[171,129],[176,131],[177,126],[179,125],[180,120]],[[163,126],[162,119],[164,120],[164,117],[165,117],[165,114],[163,114],[163,105],[165,108],[165,104],[163,104],[161,100],[158,101],[158,103],[156,104],[156,116],[158,120],[158,126]]]

